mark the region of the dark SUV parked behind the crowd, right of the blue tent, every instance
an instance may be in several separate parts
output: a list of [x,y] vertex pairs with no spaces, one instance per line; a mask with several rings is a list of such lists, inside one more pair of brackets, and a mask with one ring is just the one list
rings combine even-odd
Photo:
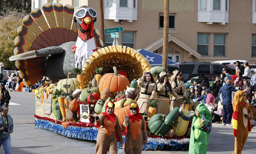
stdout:
[[[154,67],[157,65],[152,65]],[[182,72],[182,81],[186,83],[192,77],[198,76],[200,73],[205,73],[208,78],[215,78],[215,75],[220,75],[224,65],[219,63],[209,63],[205,61],[178,61],[175,64],[168,65],[168,71],[175,69]]]

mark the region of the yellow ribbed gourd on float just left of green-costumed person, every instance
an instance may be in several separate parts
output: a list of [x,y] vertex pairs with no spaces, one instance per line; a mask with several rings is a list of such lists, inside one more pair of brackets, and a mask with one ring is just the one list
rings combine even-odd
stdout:
[[[182,113],[185,115],[185,116],[188,116],[188,112],[183,110]],[[174,121],[174,126],[173,126],[173,129],[174,129],[174,135],[175,136],[183,136],[187,129],[188,129],[188,123],[189,121],[186,121],[186,120],[183,120],[181,117],[178,117],[175,121]]]

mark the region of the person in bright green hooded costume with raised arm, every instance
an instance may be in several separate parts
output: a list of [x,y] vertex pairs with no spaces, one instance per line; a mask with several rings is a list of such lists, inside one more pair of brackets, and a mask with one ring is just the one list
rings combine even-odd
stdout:
[[[183,120],[192,121],[188,154],[206,154],[212,130],[212,116],[208,108],[200,102],[195,102],[192,109],[195,111],[192,116],[185,116],[182,113],[182,105],[179,110],[179,116]],[[202,119],[202,114],[206,119]]]

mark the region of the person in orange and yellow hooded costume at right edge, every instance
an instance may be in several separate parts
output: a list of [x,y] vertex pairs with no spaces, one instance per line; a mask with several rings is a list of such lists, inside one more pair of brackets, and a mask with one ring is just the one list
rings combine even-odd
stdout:
[[252,111],[246,101],[246,92],[250,89],[244,89],[244,91],[237,91],[234,94],[232,115],[233,134],[235,136],[235,149],[233,154],[241,154],[244,144],[246,143],[247,136],[251,131],[251,120],[253,118]]

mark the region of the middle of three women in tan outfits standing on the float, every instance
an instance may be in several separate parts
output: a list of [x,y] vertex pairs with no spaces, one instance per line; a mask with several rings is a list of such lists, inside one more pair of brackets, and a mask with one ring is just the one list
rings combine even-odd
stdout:
[[[168,76],[166,72],[161,72],[159,74],[160,79],[157,83],[157,90],[159,92],[158,99],[170,99],[169,94],[171,93],[173,97],[180,98],[177,93],[172,88],[170,82],[168,81]],[[156,114],[168,115],[170,113],[170,101],[168,100],[158,100],[158,106],[156,107]]]

